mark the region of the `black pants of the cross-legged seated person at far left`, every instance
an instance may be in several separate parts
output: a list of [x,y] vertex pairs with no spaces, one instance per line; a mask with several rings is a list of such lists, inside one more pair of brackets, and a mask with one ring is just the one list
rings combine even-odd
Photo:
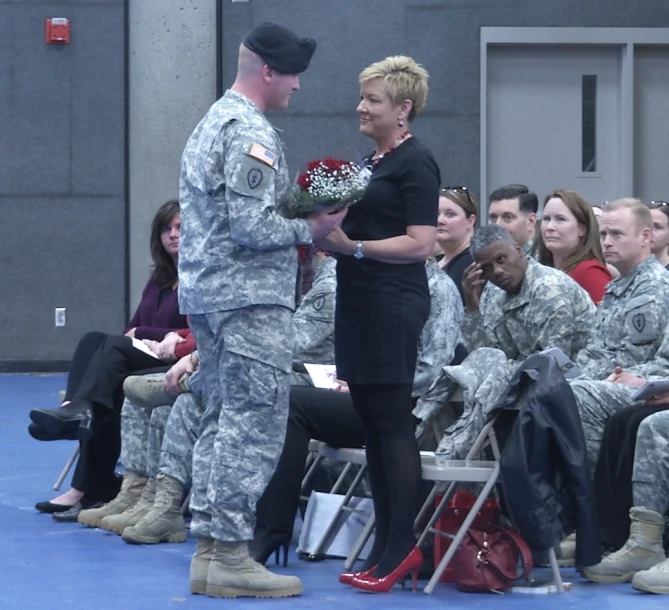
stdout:
[[123,380],[133,373],[160,368],[164,363],[133,347],[132,339],[112,335],[102,342],[90,360],[72,401],[93,404],[92,436],[80,442],[81,454],[72,487],[91,499],[109,501],[119,490],[114,474],[121,453]]

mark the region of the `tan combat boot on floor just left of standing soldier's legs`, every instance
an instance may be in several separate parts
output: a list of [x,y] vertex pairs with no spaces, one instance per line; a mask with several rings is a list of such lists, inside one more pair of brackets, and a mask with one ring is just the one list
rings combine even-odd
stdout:
[[123,540],[130,544],[186,542],[186,524],[181,514],[183,493],[179,481],[158,473],[153,506],[134,525],[123,530]]

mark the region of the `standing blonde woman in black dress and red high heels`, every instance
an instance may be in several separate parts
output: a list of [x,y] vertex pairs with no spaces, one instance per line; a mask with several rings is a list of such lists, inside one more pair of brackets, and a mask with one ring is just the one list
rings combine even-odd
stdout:
[[418,339],[430,312],[425,260],[435,243],[439,168],[408,124],[425,106],[427,72],[388,57],[360,74],[360,131],[374,140],[360,202],[322,247],[337,255],[335,359],[365,429],[376,513],[374,546],[354,587],[386,592],[415,548],[421,463],[411,415]]

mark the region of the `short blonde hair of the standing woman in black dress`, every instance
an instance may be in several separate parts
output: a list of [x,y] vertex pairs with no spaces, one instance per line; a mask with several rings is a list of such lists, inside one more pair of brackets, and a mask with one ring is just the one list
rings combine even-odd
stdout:
[[425,108],[429,75],[411,57],[393,55],[377,61],[360,73],[359,81],[362,85],[376,78],[382,79],[386,93],[395,106],[399,106],[404,100],[411,101],[411,111],[407,117],[409,121],[413,121]]

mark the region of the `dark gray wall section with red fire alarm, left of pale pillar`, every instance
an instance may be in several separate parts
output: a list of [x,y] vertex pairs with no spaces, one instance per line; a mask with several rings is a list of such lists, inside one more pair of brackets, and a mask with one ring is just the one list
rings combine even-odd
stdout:
[[124,41],[123,0],[0,0],[0,370],[125,323]]

